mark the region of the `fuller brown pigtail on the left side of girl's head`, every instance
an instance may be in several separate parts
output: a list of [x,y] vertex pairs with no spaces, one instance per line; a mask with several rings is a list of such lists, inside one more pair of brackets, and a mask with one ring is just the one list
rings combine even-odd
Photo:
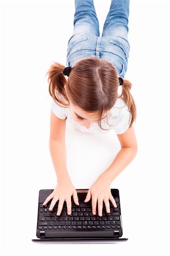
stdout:
[[46,75],[48,76],[48,92],[50,96],[56,103],[59,102],[64,106],[68,106],[68,104],[65,104],[65,100],[68,101],[68,98],[64,89],[64,85],[67,84],[67,80],[63,74],[64,68],[64,65],[54,62],[48,69]]

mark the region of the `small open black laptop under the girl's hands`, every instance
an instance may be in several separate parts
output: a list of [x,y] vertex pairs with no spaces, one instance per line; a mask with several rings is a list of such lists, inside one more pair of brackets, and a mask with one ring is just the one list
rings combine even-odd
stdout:
[[57,207],[49,210],[52,199],[43,205],[43,202],[52,193],[53,189],[39,191],[38,217],[36,226],[36,239],[33,242],[43,243],[117,243],[127,241],[123,238],[122,215],[119,190],[111,188],[117,208],[110,203],[110,213],[106,212],[103,203],[102,216],[92,213],[92,198],[84,203],[88,189],[76,189],[79,205],[72,200],[72,213],[67,214],[67,203],[64,201],[60,216],[57,216]]

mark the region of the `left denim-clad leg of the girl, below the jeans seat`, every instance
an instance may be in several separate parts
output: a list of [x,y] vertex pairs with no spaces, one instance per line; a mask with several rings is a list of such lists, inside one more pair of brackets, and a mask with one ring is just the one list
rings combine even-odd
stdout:
[[74,30],[77,33],[87,33],[99,36],[99,23],[93,0],[74,0]]

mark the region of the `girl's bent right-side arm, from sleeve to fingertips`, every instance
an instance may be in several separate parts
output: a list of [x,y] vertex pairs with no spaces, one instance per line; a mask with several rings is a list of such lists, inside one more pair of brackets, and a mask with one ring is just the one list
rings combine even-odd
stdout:
[[[118,135],[118,134],[117,134]],[[123,134],[118,135],[121,143],[121,150],[114,158],[113,163],[107,168],[105,172],[99,175],[98,179],[89,188],[86,195],[85,203],[92,197],[92,212],[96,214],[96,207],[98,204],[98,215],[102,216],[103,201],[106,205],[106,212],[110,213],[109,200],[114,207],[117,207],[113,196],[111,195],[110,184],[118,176],[118,174],[125,169],[125,167],[135,158],[137,153],[137,142],[134,128],[130,127]]]

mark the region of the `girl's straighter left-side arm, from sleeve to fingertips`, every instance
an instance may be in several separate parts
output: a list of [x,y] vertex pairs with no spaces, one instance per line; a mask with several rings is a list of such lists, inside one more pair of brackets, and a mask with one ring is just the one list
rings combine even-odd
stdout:
[[57,215],[60,215],[63,209],[64,201],[67,203],[67,212],[72,212],[73,195],[74,203],[79,205],[77,191],[74,188],[71,178],[67,171],[66,148],[65,148],[65,119],[56,117],[51,111],[50,118],[50,137],[49,150],[57,176],[57,185],[53,192],[45,199],[43,205],[52,199],[49,210],[52,210],[56,202],[59,200],[57,207]]

